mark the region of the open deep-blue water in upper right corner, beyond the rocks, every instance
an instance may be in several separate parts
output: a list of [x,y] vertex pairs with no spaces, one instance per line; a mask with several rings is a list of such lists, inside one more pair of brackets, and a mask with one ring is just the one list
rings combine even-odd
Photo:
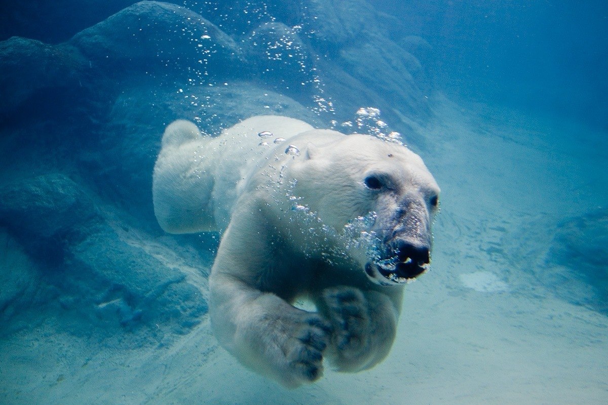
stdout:
[[441,49],[444,91],[606,128],[608,5],[375,0]]

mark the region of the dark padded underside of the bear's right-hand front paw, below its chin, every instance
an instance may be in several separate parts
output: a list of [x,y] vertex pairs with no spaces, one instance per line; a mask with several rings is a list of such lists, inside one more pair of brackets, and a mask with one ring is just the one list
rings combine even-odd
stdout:
[[356,371],[370,352],[371,320],[367,299],[352,287],[323,291],[323,305],[334,327],[334,362],[340,371]]

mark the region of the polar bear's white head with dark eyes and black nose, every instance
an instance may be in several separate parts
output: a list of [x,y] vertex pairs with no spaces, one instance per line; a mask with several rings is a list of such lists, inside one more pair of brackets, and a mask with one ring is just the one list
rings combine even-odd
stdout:
[[301,202],[337,233],[373,215],[371,246],[353,254],[373,282],[400,284],[428,268],[440,189],[420,156],[369,135],[334,135],[308,143],[290,175]]

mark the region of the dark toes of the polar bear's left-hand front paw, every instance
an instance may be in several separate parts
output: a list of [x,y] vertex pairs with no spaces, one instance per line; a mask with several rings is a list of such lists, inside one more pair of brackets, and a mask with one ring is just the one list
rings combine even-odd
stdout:
[[303,316],[291,330],[292,337],[283,347],[291,375],[283,376],[289,386],[311,383],[323,374],[323,350],[329,343],[331,325],[319,315]]

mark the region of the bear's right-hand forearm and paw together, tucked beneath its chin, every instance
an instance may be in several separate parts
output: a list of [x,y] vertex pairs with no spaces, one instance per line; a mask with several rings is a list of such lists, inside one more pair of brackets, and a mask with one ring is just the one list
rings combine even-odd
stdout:
[[319,304],[334,328],[328,356],[337,370],[370,369],[387,356],[399,315],[389,296],[339,286],[323,290]]

